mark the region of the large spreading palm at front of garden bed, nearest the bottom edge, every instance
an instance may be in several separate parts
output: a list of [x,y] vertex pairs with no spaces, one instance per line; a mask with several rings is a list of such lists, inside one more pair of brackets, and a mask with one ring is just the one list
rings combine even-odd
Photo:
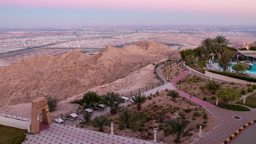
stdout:
[[181,143],[182,137],[189,137],[193,135],[190,131],[192,131],[193,128],[188,128],[185,130],[187,125],[189,124],[189,121],[184,120],[181,122],[180,118],[177,118],[177,120],[169,120],[164,123],[164,135],[168,136],[169,134],[173,135],[175,137],[174,142],[175,143]]

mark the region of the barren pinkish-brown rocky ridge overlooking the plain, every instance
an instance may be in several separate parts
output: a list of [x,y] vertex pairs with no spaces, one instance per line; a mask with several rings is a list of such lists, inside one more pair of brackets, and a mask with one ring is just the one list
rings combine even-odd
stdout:
[[172,56],[168,46],[142,42],[121,49],[107,46],[95,56],[72,51],[22,59],[0,68],[0,105],[31,102],[42,95],[65,100]]

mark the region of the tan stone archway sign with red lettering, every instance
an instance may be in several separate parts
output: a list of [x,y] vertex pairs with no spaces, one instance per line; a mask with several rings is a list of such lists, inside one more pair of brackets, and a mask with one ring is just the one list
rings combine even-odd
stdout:
[[37,134],[39,132],[39,116],[42,111],[43,123],[51,124],[50,112],[46,97],[40,97],[32,101],[31,110],[31,133]]

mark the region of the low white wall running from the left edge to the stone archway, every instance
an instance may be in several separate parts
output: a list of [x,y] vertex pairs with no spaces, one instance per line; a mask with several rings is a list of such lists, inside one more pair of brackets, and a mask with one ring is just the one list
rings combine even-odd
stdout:
[[23,130],[27,130],[29,133],[31,130],[30,121],[20,121],[14,118],[7,118],[7,117],[0,116],[0,124],[5,126],[10,126],[13,128],[20,128]]

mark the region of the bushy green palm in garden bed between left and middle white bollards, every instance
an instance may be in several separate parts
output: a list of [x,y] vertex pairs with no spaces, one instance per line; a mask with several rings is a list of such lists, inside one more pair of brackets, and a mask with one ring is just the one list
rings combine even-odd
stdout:
[[124,124],[126,128],[130,128],[131,124],[136,121],[135,116],[132,116],[132,111],[128,108],[123,109],[119,114],[120,124]]

